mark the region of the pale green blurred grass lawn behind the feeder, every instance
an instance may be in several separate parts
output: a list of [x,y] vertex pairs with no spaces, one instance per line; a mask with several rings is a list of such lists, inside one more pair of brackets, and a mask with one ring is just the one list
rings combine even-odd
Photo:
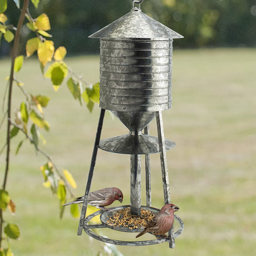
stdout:
[[[248,48],[175,50],[173,58],[173,107],[163,112],[165,137],[176,142],[167,152],[171,198],[185,223],[176,248],[168,244],[149,247],[117,247],[123,255],[253,256],[256,243],[256,50]],[[68,65],[88,82],[99,81],[99,56],[67,58]],[[1,105],[9,76],[9,60],[0,60]],[[50,132],[42,149],[55,163],[69,170],[77,181],[76,196],[85,192],[99,107],[90,114],[73,100],[66,83],[54,92],[42,78],[36,60],[27,59],[18,79],[24,90],[51,97],[45,110]],[[22,95],[14,87],[13,111]],[[2,119],[3,112],[0,113]],[[0,130],[5,141],[6,122]],[[102,138],[128,131],[107,112]],[[156,135],[155,120],[150,126]],[[28,141],[14,155],[21,135],[12,141],[7,190],[16,204],[4,218],[18,223],[21,238],[11,240],[14,255],[99,255],[104,243],[77,236],[78,219],[69,209],[58,216],[58,200],[42,186],[40,166],[46,163]],[[152,206],[164,204],[159,155],[151,157]],[[0,184],[5,164],[0,156]],[[117,186],[130,198],[130,157],[99,151],[92,190]],[[145,204],[142,175],[142,204]],[[116,202],[114,205],[120,205]],[[103,232],[103,231],[102,231]],[[113,232],[106,231],[107,235]],[[124,238],[126,233],[113,234]],[[134,239],[134,235],[127,235]],[[145,239],[151,235],[145,235]],[[103,255],[106,255],[103,253]]]

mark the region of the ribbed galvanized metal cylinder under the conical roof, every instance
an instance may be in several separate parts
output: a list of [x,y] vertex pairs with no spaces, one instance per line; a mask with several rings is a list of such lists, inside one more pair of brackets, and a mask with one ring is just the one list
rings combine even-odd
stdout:
[[161,111],[171,107],[173,40],[101,38],[100,107]]

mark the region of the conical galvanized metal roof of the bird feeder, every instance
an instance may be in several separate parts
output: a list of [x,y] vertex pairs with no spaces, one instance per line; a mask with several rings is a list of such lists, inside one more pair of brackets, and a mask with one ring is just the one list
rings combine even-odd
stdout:
[[106,27],[93,33],[91,38],[183,38],[135,7]]

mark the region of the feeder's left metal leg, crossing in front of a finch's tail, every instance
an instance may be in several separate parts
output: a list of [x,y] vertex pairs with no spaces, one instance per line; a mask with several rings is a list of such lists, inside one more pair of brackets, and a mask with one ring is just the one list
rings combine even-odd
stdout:
[[100,136],[101,136],[101,130],[102,130],[104,115],[105,115],[105,109],[101,109],[97,134],[96,134],[96,137],[95,137],[95,143],[94,143],[93,152],[92,152],[91,166],[90,166],[90,170],[89,170],[89,173],[88,173],[88,179],[87,179],[86,190],[85,190],[85,197],[83,199],[81,216],[80,216],[80,221],[79,221],[78,230],[77,230],[77,235],[82,234],[83,221],[85,220],[85,214],[86,214],[86,209],[87,209],[87,204],[88,204],[88,195],[89,195],[90,189],[91,189],[92,175],[93,175],[93,170],[94,170],[95,163],[96,163],[96,156],[97,156],[98,146],[99,146],[99,143],[100,143]]

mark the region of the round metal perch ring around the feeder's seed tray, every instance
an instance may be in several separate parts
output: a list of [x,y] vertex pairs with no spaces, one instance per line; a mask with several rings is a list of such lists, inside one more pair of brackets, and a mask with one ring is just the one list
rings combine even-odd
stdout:
[[[125,206],[120,206],[122,207],[127,207],[127,205]],[[142,206],[142,207],[146,207],[146,206]],[[117,208],[110,208],[110,210],[115,210]],[[118,209],[120,209],[118,207]],[[149,208],[147,208],[149,209]],[[150,208],[151,209],[151,208]],[[153,208],[156,209],[156,208]],[[116,239],[110,239],[110,238],[106,238],[106,237],[101,237],[101,235],[97,235],[95,233],[93,233],[91,231],[91,229],[96,229],[96,228],[110,228],[108,225],[106,225],[105,223],[99,224],[99,225],[88,225],[88,221],[90,221],[93,217],[99,215],[99,214],[107,214],[108,210],[100,210],[100,211],[96,211],[95,213],[92,213],[91,215],[87,216],[87,218],[84,220],[83,222],[83,230],[85,230],[85,233],[90,235],[90,237],[95,238],[97,240],[100,240],[102,242],[105,243],[110,243],[110,244],[116,244],[116,245],[130,245],[130,246],[142,246],[142,245],[152,245],[152,244],[160,244],[160,243],[164,243],[164,242],[169,242],[170,239],[168,238],[161,238],[161,239],[154,239],[154,240],[145,240],[145,241],[121,241],[121,240],[116,240]],[[180,224],[180,228],[178,229],[177,232],[174,233],[174,237],[178,237],[184,229],[184,223],[183,221],[176,215],[174,215],[174,218],[178,221],[178,223]],[[106,220],[105,220],[106,221]],[[123,232],[126,232],[126,230],[120,230]],[[139,231],[138,231],[139,232]]]

